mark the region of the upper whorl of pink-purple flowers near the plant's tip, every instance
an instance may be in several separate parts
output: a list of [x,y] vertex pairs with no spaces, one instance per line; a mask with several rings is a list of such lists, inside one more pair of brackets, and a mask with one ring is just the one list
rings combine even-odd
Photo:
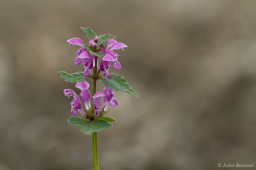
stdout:
[[[111,63],[113,64],[113,68],[120,69],[121,65],[118,61],[118,54],[116,54],[116,49],[123,50],[123,48],[127,47],[127,45],[116,42],[116,40],[108,40],[108,43],[102,43],[99,46],[97,45],[97,42],[99,40],[99,37],[94,37],[93,40],[90,40],[89,47],[91,50],[95,52],[100,52],[104,54],[105,56],[102,57],[102,61],[100,62],[100,69],[98,72],[98,76],[102,77],[106,75],[106,77],[111,78],[109,75],[109,68],[111,67]],[[84,65],[84,77],[93,76],[93,68],[95,69],[95,56],[91,55],[89,51],[87,51],[84,48],[84,43],[80,38],[72,38],[70,40],[67,40],[67,42],[70,43],[70,45],[79,45],[81,48],[76,52],[77,56],[75,59],[75,64],[79,65],[83,63]],[[97,58],[97,61],[99,61],[99,57]],[[96,68],[98,67],[98,63]]]

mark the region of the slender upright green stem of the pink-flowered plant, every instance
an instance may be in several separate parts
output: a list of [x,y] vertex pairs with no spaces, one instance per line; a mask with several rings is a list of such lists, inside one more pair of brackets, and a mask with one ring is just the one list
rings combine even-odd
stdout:
[[[97,84],[97,57],[95,56],[95,67],[93,76],[93,96],[96,94],[96,84]],[[98,161],[98,149],[97,149],[97,132],[93,132],[93,164],[94,170],[99,170]]]

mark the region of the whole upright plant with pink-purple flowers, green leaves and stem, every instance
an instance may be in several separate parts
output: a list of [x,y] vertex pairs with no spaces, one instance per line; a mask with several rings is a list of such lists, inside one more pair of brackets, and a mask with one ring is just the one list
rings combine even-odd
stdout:
[[[116,122],[112,117],[107,115],[108,104],[115,107],[118,105],[112,91],[122,91],[134,96],[139,95],[127,84],[127,81],[117,74],[109,74],[111,63],[113,68],[120,69],[121,64],[118,61],[119,55],[113,50],[124,50],[127,45],[116,42],[116,38],[110,34],[103,34],[97,36],[90,28],[80,27],[90,39],[89,43],[84,44],[80,38],[72,38],[67,40],[70,46],[79,45],[75,64],[84,66],[84,72],[77,72],[68,74],[65,71],[59,71],[61,78],[67,82],[76,82],[76,88],[81,90],[79,96],[72,89],[64,89],[64,94],[68,98],[73,97],[71,105],[71,113],[80,117],[70,117],[67,122],[70,125],[78,127],[81,132],[90,135],[93,134],[93,161],[94,169],[99,170],[98,151],[97,151],[97,132],[112,127],[109,122]],[[99,63],[99,59],[101,61]],[[99,69],[98,69],[99,68]],[[93,79],[93,93],[90,94],[89,83],[85,78]],[[103,93],[96,91],[96,84],[98,79],[102,79],[105,85]],[[81,97],[81,99],[80,99]],[[103,101],[102,101],[103,100]],[[81,102],[82,101],[82,102]]]

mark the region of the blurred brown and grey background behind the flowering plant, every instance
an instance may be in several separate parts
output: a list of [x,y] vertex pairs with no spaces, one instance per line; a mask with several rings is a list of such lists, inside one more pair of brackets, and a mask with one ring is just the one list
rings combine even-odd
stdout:
[[[219,170],[256,162],[256,1],[0,0],[0,170],[93,170],[92,136],[67,124],[58,71],[82,71],[80,26],[128,45],[101,170]],[[87,79],[89,83],[90,79]],[[102,91],[99,80],[97,90]],[[91,87],[90,87],[91,90]],[[235,168],[229,168],[235,169]],[[242,169],[242,168],[241,168]]]

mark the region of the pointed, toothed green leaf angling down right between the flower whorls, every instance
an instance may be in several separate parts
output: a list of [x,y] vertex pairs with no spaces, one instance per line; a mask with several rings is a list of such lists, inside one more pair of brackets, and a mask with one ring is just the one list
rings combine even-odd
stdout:
[[108,87],[110,90],[114,89],[116,91],[126,92],[128,94],[132,94],[134,96],[139,97],[139,95],[131,88],[131,86],[127,84],[127,81],[126,79],[124,79],[124,77],[113,73],[110,74],[110,76],[111,79],[102,79],[102,82],[105,85],[105,87]]

